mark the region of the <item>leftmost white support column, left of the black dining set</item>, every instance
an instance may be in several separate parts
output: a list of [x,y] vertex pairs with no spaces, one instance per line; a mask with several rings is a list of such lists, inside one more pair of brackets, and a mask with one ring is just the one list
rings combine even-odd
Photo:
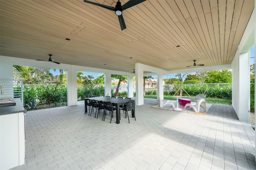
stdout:
[[68,106],[77,105],[77,71],[72,68],[68,69],[67,73],[67,97],[68,97]]

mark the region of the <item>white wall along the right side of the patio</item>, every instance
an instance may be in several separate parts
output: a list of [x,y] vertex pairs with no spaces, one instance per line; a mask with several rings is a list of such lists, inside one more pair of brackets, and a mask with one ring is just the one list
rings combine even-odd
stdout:
[[[250,121],[250,58],[249,50],[255,45],[251,36],[255,36],[255,8],[238,45],[236,55],[231,63],[232,68],[232,106],[240,121]],[[241,53],[243,51],[243,53]]]

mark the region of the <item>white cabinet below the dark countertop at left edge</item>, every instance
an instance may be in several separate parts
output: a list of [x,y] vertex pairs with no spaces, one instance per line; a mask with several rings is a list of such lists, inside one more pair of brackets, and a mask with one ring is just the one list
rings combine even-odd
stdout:
[[0,170],[25,163],[24,113],[0,115]]

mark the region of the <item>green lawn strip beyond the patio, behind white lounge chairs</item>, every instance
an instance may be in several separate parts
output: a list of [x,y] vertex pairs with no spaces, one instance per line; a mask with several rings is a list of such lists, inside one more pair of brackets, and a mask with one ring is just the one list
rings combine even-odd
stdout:
[[[150,98],[150,99],[157,99],[156,95],[146,95],[144,98]],[[176,100],[175,97],[172,96],[164,96],[164,99],[166,100]],[[209,98],[206,97],[206,103],[216,103],[216,104],[223,104],[223,105],[231,105],[230,99],[218,99],[218,98]],[[193,101],[193,100],[192,100]]]

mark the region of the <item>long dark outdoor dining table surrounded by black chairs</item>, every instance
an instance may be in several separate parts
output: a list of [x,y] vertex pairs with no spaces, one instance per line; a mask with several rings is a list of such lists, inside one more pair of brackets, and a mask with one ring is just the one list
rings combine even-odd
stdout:
[[[110,101],[112,103],[113,106],[116,107],[116,123],[119,124],[120,123],[120,109],[119,106],[120,105],[125,105],[126,103],[129,103],[129,101],[135,102],[134,100],[126,100],[126,99],[117,99],[117,98],[110,98],[110,97],[89,97],[89,98],[85,98],[84,99],[84,105],[85,105],[85,113],[87,113],[87,102],[86,100],[96,100],[96,101]],[[132,117],[135,117],[135,105],[132,111]]]

